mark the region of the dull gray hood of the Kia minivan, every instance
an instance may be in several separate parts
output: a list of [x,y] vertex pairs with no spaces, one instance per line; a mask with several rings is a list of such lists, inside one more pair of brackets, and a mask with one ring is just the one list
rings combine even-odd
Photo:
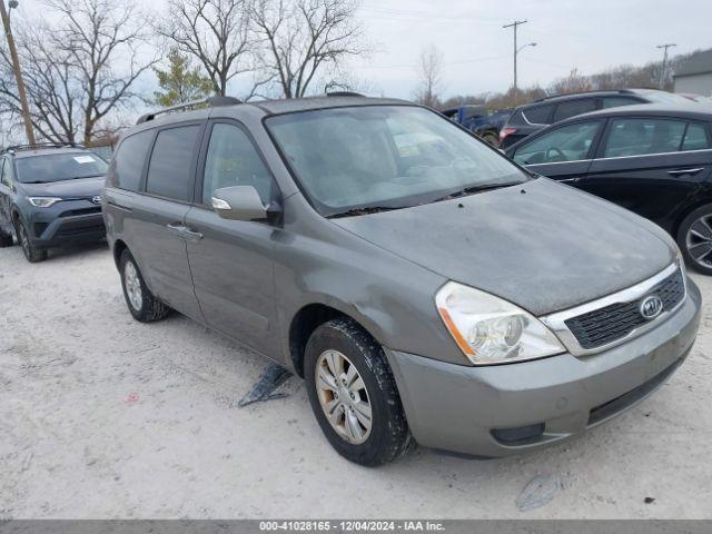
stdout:
[[675,258],[652,222],[546,178],[332,221],[534,315],[630,287]]

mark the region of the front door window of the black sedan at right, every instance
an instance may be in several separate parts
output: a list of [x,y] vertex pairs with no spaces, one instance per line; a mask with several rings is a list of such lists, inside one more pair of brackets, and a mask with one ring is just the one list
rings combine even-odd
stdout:
[[558,164],[586,159],[601,122],[576,122],[544,134],[514,152],[520,165]]

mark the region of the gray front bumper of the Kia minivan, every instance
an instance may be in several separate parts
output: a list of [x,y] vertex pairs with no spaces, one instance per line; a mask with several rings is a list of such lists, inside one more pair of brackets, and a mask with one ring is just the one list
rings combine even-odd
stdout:
[[684,304],[656,328],[606,352],[562,354],[469,367],[386,349],[418,444],[507,456],[580,434],[657,388],[690,353],[701,295],[688,279]]

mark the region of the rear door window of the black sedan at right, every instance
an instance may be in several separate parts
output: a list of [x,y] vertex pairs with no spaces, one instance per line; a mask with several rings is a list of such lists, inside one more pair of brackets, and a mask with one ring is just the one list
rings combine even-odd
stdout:
[[604,158],[676,152],[685,122],[668,119],[615,119],[611,123]]

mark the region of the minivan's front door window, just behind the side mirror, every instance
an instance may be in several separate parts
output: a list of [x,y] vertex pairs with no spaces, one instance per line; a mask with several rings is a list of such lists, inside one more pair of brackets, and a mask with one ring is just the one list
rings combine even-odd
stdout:
[[202,204],[210,206],[212,191],[222,187],[253,186],[265,206],[275,197],[275,182],[247,135],[237,126],[212,127],[205,160]]

